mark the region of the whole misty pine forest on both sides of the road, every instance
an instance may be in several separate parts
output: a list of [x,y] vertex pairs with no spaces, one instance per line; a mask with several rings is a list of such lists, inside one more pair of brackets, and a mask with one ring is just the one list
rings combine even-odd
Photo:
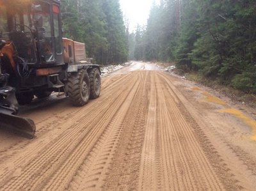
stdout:
[[63,0],[65,37],[102,65],[172,62],[184,72],[256,93],[255,0],[160,0],[129,33],[118,0]]

